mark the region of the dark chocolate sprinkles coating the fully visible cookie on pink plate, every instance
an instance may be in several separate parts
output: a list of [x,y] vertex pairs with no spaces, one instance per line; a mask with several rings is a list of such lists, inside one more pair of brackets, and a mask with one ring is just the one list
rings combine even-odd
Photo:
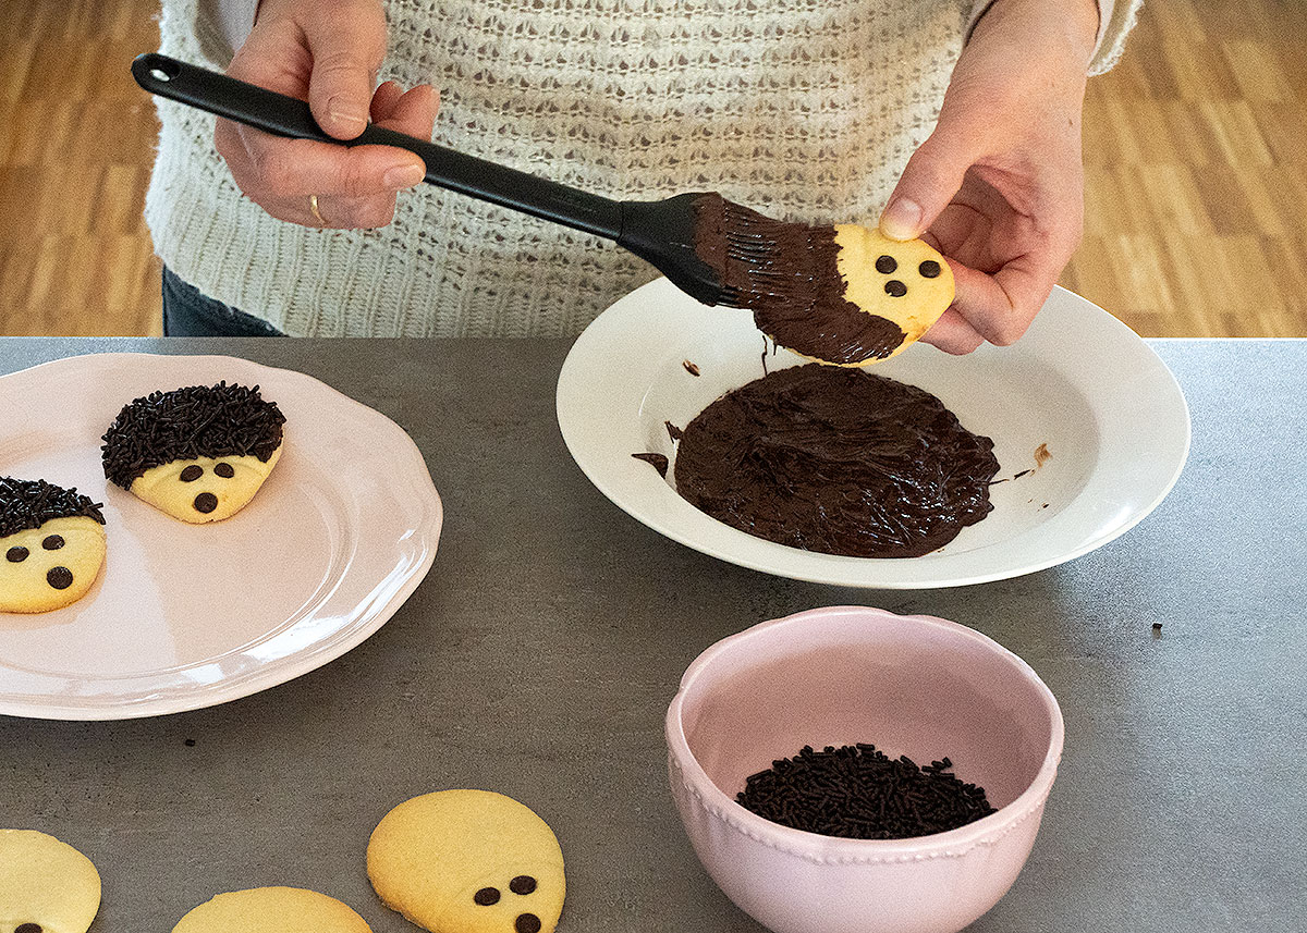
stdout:
[[118,413],[102,440],[105,476],[123,489],[145,470],[174,460],[256,456],[281,446],[286,417],[259,387],[191,385],[152,392]]

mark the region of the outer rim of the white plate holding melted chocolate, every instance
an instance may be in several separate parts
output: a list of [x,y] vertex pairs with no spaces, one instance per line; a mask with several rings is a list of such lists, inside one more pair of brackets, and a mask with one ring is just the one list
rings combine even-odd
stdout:
[[[580,399],[583,395],[579,389],[583,385],[586,385],[584,370],[587,367],[587,363],[592,357],[597,355],[595,353],[596,349],[600,352],[605,349],[612,349],[604,341],[610,337],[610,335],[605,333],[605,329],[613,325],[612,321],[614,320],[614,316],[621,316],[623,314],[627,314],[629,310],[633,307],[638,308],[642,303],[648,303],[651,297],[655,303],[660,302],[664,307],[670,307],[674,306],[676,303],[680,303],[682,310],[693,308],[695,312],[703,310],[720,314],[720,310],[718,308],[708,310],[706,307],[698,306],[697,303],[691,304],[690,303],[691,299],[684,297],[678,290],[676,290],[676,287],[672,286],[667,278],[657,278],[652,282],[642,285],[640,287],[627,293],[617,302],[610,304],[593,321],[591,321],[591,324],[586,328],[586,331],[582,332],[582,335],[576,338],[576,341],[569,350],[566,359],[563,361],[563,366],[562,370],[559,371],[558,383],[555,388],[555,417],[558,419],[559,431],[563,436],[563,443],[567,447],[567,451],[571,455],[574,463],[576,463],[576,465],[580,468],[582,473],[587,477],[587,480],[589,480],[589,482],[600,493],[603,493],[604,497],[609,499],[609,502],[616,504],[618,508],[621,508],[623,512],[634,517],[640,524],[657,532],[659,534],[670,538],[686,548],[697,550],[702,554],[707,554],[708,557],[725,561],[727,563],[733,563],[736,566],[754,570],[758,572],[765,572],[774,576],[782,576],[806,583],[855,587],[863,589],[910,589],[910,591],[938,589],[938,588],[966,587],[966,585],[975,585],[982,583],[993,583],[997,580],[1012,579],[1016,576],[1035,574],[1067,563],[1069,561],[1074,561],[1090,551],[1094,551],[1110,544],[1111,541],[1116,540],[1125,532],[1131,531],[1134,525],[1137,525],[1145,517],[1151,515],[1151,512],[1157,510],[1157,507],[1162,503],[1162,500],[1166,499],[1166,497],[1175,487],[1175,483],[1179,481],[1182,473],[1184,472],[1184,466],[1188,463],[1193,439],[1193,425],[1188,406],[1188,400],[1185,399],[1179,382],[1175,379],[1175,374],[1171,372],[1166,362],[1158,355],[1158,353],[1151,346],[1148,345],[1148,342],[1144,341],[1142,337],[1134,333],[1134,331],[1127,327],[1116,316],[1114,316],[1104,308],[1099,307],[1098,304],[1090,302],[1087,298],[1084,298],[1082,295],[1078,295],[1061,286],[1053,286],[1053,290],[1050,294],[1048,301],[1044,303],[1043,312],[1035,318],[1035,323],[1031,325],[1030,331],[1035,331],[1036,327],[1040,325],[1040,321],[1043,323],[1044,328],[1048,328],[1053,325],[1051,319],[1065,318],[1067,312],[1063,310],[1057,310],[1053,311],[1052,314],[1048,314],[1050,306],[1052,306],[1053,308],[1061,308],[1061,306],[1067,304],[1068,302],[1070,304],[1078,304],[1080,310],[1087,312],[1080,319],[1081,327],[1106,328],[1108,333],[1112,333],[1116,338],[1132,346],[1134,352],[1146,355],[1148,362],[1153,367],[1151,374],[1154,376],[1163,378],[1162,384],[1166,389],[1166,393],[1170,396],[1168,399],[1162,401],[1175,405],[1175,410],[1172,412],[1172,414],[1175,416],[1175,427],[1180,427],[1183,425],[1183,439],[1179,444],[1179,450],[1175,451],[1172,457],[1170,459],[1170,469],[1167,470],[1167,474],[1165,476],[1162,482],[1157,486],[1157,490],[1151,500],[1148,502],[1146,506],[1141,506],[1136,514],[1132,514],[1128,517],[1128,520],[1117,523],[1116,525],[1114,525],[1112,528],[1107,529],[1100,534],[1094,534],[1081,541],[1074,548],[1069,548],[1067,550],[1050,554],[1040,559],[1027,561],[1016,566],[1002,566],[975,572],[953,572],[951,575],[941,575],[937,578],[927,578],[927,579],[921,579],[919,576],[907,579],[910,575],[903,575],[903,574],[894,575],[893,571],[887,574],[881,574],[869,570],[872,567],[889,568],[891,565],[904,566],[911,561],[919,561],[920,558],[895,558],[895,559],[853,558],[853,557],[819,554],[816,551],[805,551],[796,548],[789,548],[786,545],[766,541],[763,538],[757,538],[754,536],[748,534],[746,532],[731,528],[724,523],[719,523],[715,519],[711,519],[710,516],[699,514],[704,520],[714,523],[714,525],[718,525],[720,528],[720,533],[729,533],[727,534],[728,540],[741,542],[741,546],[744,548],[745,553],[742,554],[735,553],[729,548],[706,546],[702,541],[695,540],[694,536],[685,533],[682,529],[674,525],[670,525],[668,521],[660,520],[657,515],[651,516],[648,514],[648,510],[642,510],[638,504],[629,502],[626,497],[622,495],[621,490],[617,489],[618,482],[616,481],[616,478],[609,476],[603,469],[601,464],[596,463],[596,460],[591,456],[591,451],[586,450],[584,444],[582,443],[582,439],[578,436],[579,433],[583,430],[582,417],[580,417],[583,405],[578,404],[576,400]],[[1086,324],[1085,321],[1089,321],[1089,324]],[[657,321],[650,324],[648,329],[652,332],[652,329],[661,323],[663,319],[659,319]],[[761,337],[761,333],[758,336]],[[1019,341],[1018,344],[1014,345],[1014,348],[1017,346],[1019,346]],[[1010,352],[1014,348],[995,348],[995,349],[1000,349],[1002,352]],[[1036,359],[1040,359],[1044,365],[1047,365],[1047,361],[1038,357]],[[655,362],[651,362],[648,367],[650,372],[652,372],[654,366]],[[638,372],[640,378],[643,378],[644,371],[638,370]],[[1059,371],[1059,374],[1063,376],[1067,375],[1067,372],[1064,371]],[[1074,380],[1072,382],[1074,383]],[[648,389],[650,385],[644,385],[642,383],[642,387],[639,389],[640,401],[643,401],[643,399],[647,396]],[[633,413],[633,417],[638,417],[638,409],[635,413]],[[1090,477],[1093,476],[1094,473],[1091,472]],[[676,495],[674,489],[672,489],[669,483],[668,483],[668,490],[670,491],[672,495]],[[1084,491],[1085,491],[1084,489],[1080,490],[1076,498],[1072,499],[1072,503],[1080,500]],[[682,500],[682,503],[685,504],[686,508],[690,510],[694,508],[687,502]],[[1036,529],[1027,529],[1022,534],[1030,533]],[[775,559],[767,559],[769,554]],[[784,567],[778,566],[782,563],[783,555],[788,557],[789,562],[796,562],[799,566],[796,567],[793,566],[793,563],[789,562],[786,562]],[[945,557],[961,558],[962,554],[959,553],[953,555],[937,555],[937,562],[944,561]],[[856,567],[859,572],[853,574],[847,572],[850,567]]]

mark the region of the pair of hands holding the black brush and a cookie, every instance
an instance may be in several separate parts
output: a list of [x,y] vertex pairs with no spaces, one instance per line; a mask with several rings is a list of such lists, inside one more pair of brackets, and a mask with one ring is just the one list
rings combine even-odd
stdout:
[[[935,132],[881,217],[887,237],[923,237],[953,267],[957,297],[927,342],[949,353],[1014,342],[1080,243],[1081,108],[1097,33],[1095,0],[996,0],[963,48]],[[341,140],[369,119],[430,139],[431,86],[372,90],[386,47],[380,0],[263,0],[227,73],[307,99]],[[397,193],[425,174],[401,149],[282,140],[229,120],[214,141],[252,201],[306,226],[386,226]]]

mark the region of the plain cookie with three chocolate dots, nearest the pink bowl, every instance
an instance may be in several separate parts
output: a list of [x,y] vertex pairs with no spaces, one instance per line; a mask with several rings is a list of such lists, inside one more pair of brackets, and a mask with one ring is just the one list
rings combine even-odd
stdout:
[[433,933],[550,933],[563,853],[529,808],[489,791],[439,791],[382,818],[367,843],[382,902]]

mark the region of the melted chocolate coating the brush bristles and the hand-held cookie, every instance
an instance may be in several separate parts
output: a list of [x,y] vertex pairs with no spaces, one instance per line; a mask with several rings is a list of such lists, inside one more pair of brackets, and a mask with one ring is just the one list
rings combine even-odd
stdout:
[[695,201],[694,252],[782,346],[831,363],[884,359],[907,335],[844,298],[835,227],[784,223],[725,200]]

